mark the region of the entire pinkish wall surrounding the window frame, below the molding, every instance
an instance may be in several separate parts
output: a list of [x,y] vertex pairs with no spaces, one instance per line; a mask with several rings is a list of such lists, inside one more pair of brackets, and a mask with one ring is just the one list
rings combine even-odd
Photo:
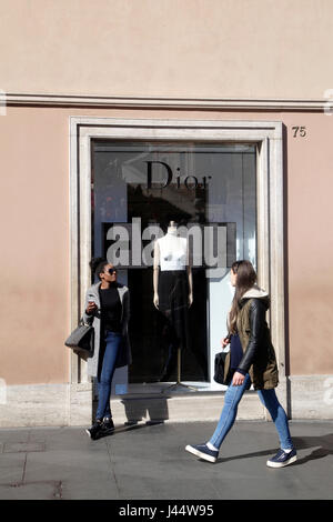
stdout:
[[[274,119],[286,126],[290,373],[333,373],[333,117],[13,108],[0,117],[0,378],[69,381],[69,117]],[[305,138],[293,138],[305,126]]]

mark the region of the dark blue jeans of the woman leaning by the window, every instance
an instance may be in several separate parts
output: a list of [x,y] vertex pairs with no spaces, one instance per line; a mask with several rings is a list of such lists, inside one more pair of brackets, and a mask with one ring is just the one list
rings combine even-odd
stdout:
[[105,352],[103,358],[103,365],[101,377],[98,383],[99,388],[99,403],[97,409],[97,419],[104,416],[111,418],[110,396],[111,383],[115,370],[115,361],[119,353],[122,335],[118,332],[105,332]]

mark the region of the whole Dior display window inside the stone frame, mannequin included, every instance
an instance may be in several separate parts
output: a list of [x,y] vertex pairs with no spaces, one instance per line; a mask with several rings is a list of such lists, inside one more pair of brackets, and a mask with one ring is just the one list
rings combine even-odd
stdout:
[[255,158],[246,143],[92,141],[91,250],[130,289],[129,385],[221,389],[230,268],[256,267]]

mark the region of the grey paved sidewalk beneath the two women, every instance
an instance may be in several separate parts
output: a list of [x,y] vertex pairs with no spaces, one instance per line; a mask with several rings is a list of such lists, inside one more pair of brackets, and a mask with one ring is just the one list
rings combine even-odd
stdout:
[[333,499],[333,422],[291,421],[299,460],[278,470],[265,465],[279,449],[272,422],[238,421],[215,464],[184,451],[214,428],[117,426],[94,442],[83,428],[2,429],[0,499]]

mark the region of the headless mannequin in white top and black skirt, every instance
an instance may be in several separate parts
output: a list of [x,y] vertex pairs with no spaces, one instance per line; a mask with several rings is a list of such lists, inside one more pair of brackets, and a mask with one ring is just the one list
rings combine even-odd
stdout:
[[153,289],[154,307],[167,319],[170,333],[169,360],[160,381],[168,380],[176,358],[176,385],[183,385],[180,383],[181,349],[189,338],[188,310],[193,302],[193,282],[188,240],[178,235],[174,221],[170,221],[167,234],[155,241]]

